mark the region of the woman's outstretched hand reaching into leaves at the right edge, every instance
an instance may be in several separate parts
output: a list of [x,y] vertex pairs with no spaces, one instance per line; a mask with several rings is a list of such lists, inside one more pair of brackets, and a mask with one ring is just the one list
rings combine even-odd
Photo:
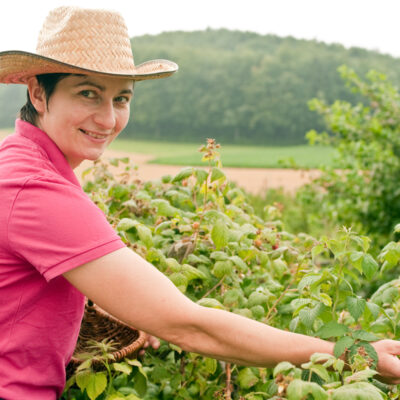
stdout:
[[386,383],[400,383],[400,341],[380,340],[372,343],[378,353],[378,372],[380,380]]

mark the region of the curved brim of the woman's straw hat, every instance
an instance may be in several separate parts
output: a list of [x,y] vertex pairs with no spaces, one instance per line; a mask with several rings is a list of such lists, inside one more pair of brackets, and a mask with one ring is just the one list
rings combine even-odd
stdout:
[[26,84],[32,76],[50,73],[94,74],[143,81],[172,75],[178,65],[169,60],[151,60],[139,64],[129,73],[102,72],[63,63],[26,51],[0,52],[0,83]]

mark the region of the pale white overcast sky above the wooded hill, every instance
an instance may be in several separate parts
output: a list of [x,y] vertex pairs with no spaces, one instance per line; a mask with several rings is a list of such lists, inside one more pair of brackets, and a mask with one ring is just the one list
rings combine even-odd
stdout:
[[132,37],[228,28],[400,57],[400,0],[7,0],[0,12],[0,51],[34,51],[44,18],[61,5],[117,10]]

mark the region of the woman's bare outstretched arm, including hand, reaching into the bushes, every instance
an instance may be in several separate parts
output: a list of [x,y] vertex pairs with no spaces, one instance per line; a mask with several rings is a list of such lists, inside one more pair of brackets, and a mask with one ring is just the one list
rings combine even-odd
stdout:
[[[120,320],[184,350],[242,365],[301,364],[333,343],[282,331],[227,311],[201,307],[153,265],[123,248],[64,274],[76,288]],[[400,344],[375,345],[379,370],[400,379]]]

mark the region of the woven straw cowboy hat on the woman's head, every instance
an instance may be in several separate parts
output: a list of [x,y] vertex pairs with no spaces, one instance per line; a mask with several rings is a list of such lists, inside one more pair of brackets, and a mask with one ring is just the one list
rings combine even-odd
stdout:
[[60,72],[139,81],[164,78],[177,70],[178,65],[168,60],[135,66],[124,19],[109,10],[56,8],[43,24],[36,53],[0,52],[0,83],[26,83],[35,75]]

